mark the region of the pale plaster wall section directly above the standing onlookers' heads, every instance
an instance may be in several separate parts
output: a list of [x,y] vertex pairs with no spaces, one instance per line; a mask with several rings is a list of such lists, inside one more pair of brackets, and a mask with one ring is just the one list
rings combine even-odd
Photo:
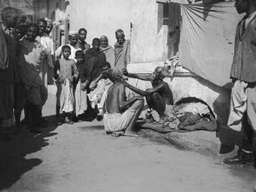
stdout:
[[70,30],[86,28],[86,42],[106,35],[110,45],[115,43],[115,30],[122,28],[125,37],[131,38],[131,1],[124,0],[70,0],[67,13]]

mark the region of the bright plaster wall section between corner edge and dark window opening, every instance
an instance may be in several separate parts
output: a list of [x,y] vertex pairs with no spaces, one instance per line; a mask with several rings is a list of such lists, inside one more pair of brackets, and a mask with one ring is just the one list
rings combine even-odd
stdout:
[[167,53],[167,26],[157,33],[158,4],[132,0],[131,63],[163,61]]

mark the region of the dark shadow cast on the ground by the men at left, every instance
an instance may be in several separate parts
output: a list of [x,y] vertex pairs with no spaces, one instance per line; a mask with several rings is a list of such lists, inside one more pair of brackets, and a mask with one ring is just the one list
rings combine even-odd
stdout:
[[18,135],[13,135],[12,128],[4,129],[4,134],[11,140],[0,140],[0,190],[10,187],[28,170],[43,162],[42,159],[28,159],[26,156],[49,145],[47,138],[56,134],[51,133],[57,128],[54,116],[45,119],[49,121],[49,126],[40,128],[42,134],[30,133],[26,125],[23,125]]

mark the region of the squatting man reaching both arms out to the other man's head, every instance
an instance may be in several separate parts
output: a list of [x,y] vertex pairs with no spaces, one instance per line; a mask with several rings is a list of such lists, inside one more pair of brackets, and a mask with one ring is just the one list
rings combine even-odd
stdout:
[[160,116],[159,123],[163,123],[166,116],[166,107],[173,104],[172,90],[169,88],[169,85],[163,81],[163,78],[168,75],[168,69],[165,67],[157,67],[151,75],[128,73],[126,69],[123,70],[123,73],[130,78],[151,81],[153,88],[148,88],[146,91],[135,88],[129,83],[125,83],[125,86],[141,96],[146,96],[146,103],[149,109],[156,110]]

